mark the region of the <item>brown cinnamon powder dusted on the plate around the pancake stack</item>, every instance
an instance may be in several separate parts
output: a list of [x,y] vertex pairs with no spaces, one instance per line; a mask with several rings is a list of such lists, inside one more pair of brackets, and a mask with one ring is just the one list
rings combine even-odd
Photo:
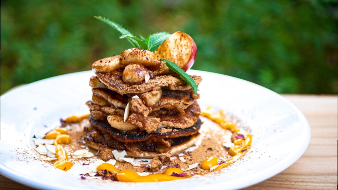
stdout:
[[[170,157],[169,161],[165,163],[158,172],[163,173],[164,170],[170,167],[180,168],[185,170],[189,168],[190,165],[198,163],[197,167],[185,171],[188,175],[196,174],[205,174],[209,173],[209,170],[204,170],[201,168],[200,164],[203,160],[210,157],[217,157],[218,162],[226,162],[231,156],[228,153],[228,148],[223,144],[231,143],[232,132],[221,128],[218,124],[210,121],[207,118],[201,118],[204,123],[201,126],[199,133],[201,133],[200,139],[185,151],[179,153],[178,155],[173,155]],[[86,149],[87,145],[84,143],[83,138],[86,136],[84,128],[89,124],[88,119],[83,119],[78,123],[65,123],[63,127],[68,129],[71,142],[69,144],[63,144],[65,151],[67,152],[68,158],[74,164],[89,164],[95,162],[99,157],[99,152],[95,150],[89,150],[94,153],[92,158],[81,158],[73,159],[72,153],[79,149]],[[128,162],[119,162],[117,161],[115,166],[119,170],[134,170],[136,172],[150,172],[152,173],[148,165],[151,159],[136,159],[135,163],[138,166],[132,165]],[[53,163],[53,161],[48,161]]]

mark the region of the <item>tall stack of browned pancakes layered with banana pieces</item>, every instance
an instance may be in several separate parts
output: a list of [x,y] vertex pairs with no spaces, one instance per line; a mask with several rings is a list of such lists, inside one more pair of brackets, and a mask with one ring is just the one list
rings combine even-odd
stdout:
[[[138,158],[154,158],[159,153],[175,155],[192,146],[201,126],[196,101],[199,94],[195,95],[180,76],[168,72],[165,63],[147,67],[149,79],[138,83],[123,80],[123,65],[113,71],[95,69],[98,64],[116,60],[121,62],[123,56],[93,64],[93,96],[86,103],[91,113],[84,138],[87,145],[97,150],[125,150],[127,157]],[[159,68],[165,72],[159,72]],[[201,82],[201,77],[191,77],[197,85]]]

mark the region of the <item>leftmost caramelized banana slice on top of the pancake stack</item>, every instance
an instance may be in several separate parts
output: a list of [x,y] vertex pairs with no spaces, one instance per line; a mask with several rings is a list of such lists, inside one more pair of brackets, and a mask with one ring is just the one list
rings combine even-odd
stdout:
[[93,63],[92,68],[96,72],[110,73],[121,67],[121,56],[106,57]]

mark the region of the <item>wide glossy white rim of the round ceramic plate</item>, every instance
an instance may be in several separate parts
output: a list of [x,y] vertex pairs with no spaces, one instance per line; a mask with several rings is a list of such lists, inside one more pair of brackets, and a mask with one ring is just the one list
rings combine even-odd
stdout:
[[282,96],[238,78],[190,70],[203,78],[201,108],[224,109],[251,128],[251,151],[240,161],[207,175],[160,183],[81,180],[38,159],[34,134],[59,125],[60,118],[89,113],[92,71],[48,78],[1,96],[1,174],[41,189],[239,189],[262,182],[293,164],[310,141],[304,115]]

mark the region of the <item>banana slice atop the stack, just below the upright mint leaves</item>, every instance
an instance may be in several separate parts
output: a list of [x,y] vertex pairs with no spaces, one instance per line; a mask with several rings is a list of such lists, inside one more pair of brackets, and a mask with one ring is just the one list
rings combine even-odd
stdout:
[[139,63],[146,67],[152,67],[161,63],[160,59],[153,52],[141,48],[126,49],[122,51],[121,57],[121,64],[123,66]]

